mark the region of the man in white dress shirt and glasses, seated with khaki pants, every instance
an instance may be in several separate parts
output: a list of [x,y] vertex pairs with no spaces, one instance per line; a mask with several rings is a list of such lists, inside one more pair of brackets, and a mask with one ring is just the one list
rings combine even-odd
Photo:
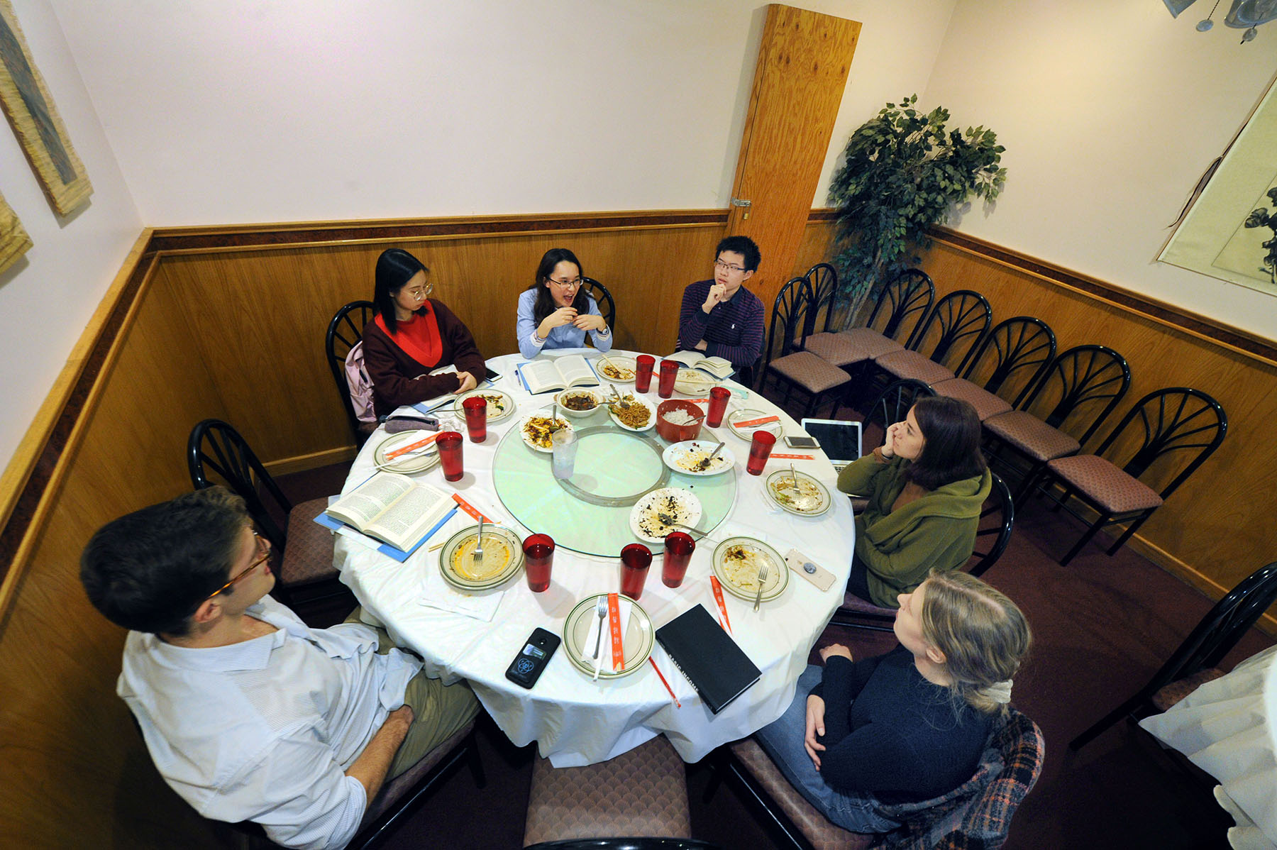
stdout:
[[211,488],[103,526],[80,578],[130,629],[116,689],[165,781],[276,844],[344,847],[382,784],[479,705],[368,625],[306,627],[267,596],[269,554],[244,500]]

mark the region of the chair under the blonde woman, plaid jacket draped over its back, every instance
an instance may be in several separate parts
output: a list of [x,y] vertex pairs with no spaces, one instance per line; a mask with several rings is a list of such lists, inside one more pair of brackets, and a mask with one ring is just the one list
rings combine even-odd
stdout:
[[[834,826],[784,777],[767,753],[752,739],[728,747],[718,759],[760,809],[785,846],[801,850],[859,850],[909,847],[969,850],[1000,847],[1011,817],[1042,772],[1046,740],[1032,720],[1014,708],[990,735],[974,776],[949,794],[899,805],[884,805],[885,816],[902,826],[885,835],[848,832]],[[723,763],[725,762],[725,763]],[[716,780],[716,776],[715,776]],[[716,781],[706,789],[706,796]]]

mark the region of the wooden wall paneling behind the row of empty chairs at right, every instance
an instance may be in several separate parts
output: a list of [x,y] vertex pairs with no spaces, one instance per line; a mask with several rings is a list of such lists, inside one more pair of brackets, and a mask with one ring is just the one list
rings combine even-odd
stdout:
[[[1212,394],[1228,415],[1228,436],[1131,545],[1216,597],[1272,560],[1277,525],[1269,519],[1268,500],[1257,496],[1272,490],[1271,471],[1277,468],[1277,368],[944,240],[926,255],[923,268],[937,296],[973,288],[990,300],[995,320],[1020,314],[1043,319],[1061,351],[1101,343],[1126,357],[1130,391],[1089,449],[1148,392],[1188,385]],[[1165,468],[1151,475],[1154,486],[1170,477]]]

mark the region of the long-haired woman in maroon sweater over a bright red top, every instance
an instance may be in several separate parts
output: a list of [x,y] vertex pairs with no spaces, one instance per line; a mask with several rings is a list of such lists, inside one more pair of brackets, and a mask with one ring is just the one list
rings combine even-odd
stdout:
[[[398,248],[377,258],[377,318],[364,327],[364,366],[378,417],[401,405],[474,389],[485,374],[465,323],[442,301],[427,297],[434,288],[428,274],[421,260]],[[428,374],[452,364],[455,373]]]

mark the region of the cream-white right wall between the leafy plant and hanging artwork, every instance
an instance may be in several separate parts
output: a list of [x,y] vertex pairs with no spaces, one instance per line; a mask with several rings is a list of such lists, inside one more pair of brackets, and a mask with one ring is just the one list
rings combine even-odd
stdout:
[[1211,5],[960,0],[921,101],[1006,145],[996,212],[959,230],[1277,339],[1272,296],[1154,262],[1277,71],[1277,23],[1239,45],[1227,3],[1194,29]]

